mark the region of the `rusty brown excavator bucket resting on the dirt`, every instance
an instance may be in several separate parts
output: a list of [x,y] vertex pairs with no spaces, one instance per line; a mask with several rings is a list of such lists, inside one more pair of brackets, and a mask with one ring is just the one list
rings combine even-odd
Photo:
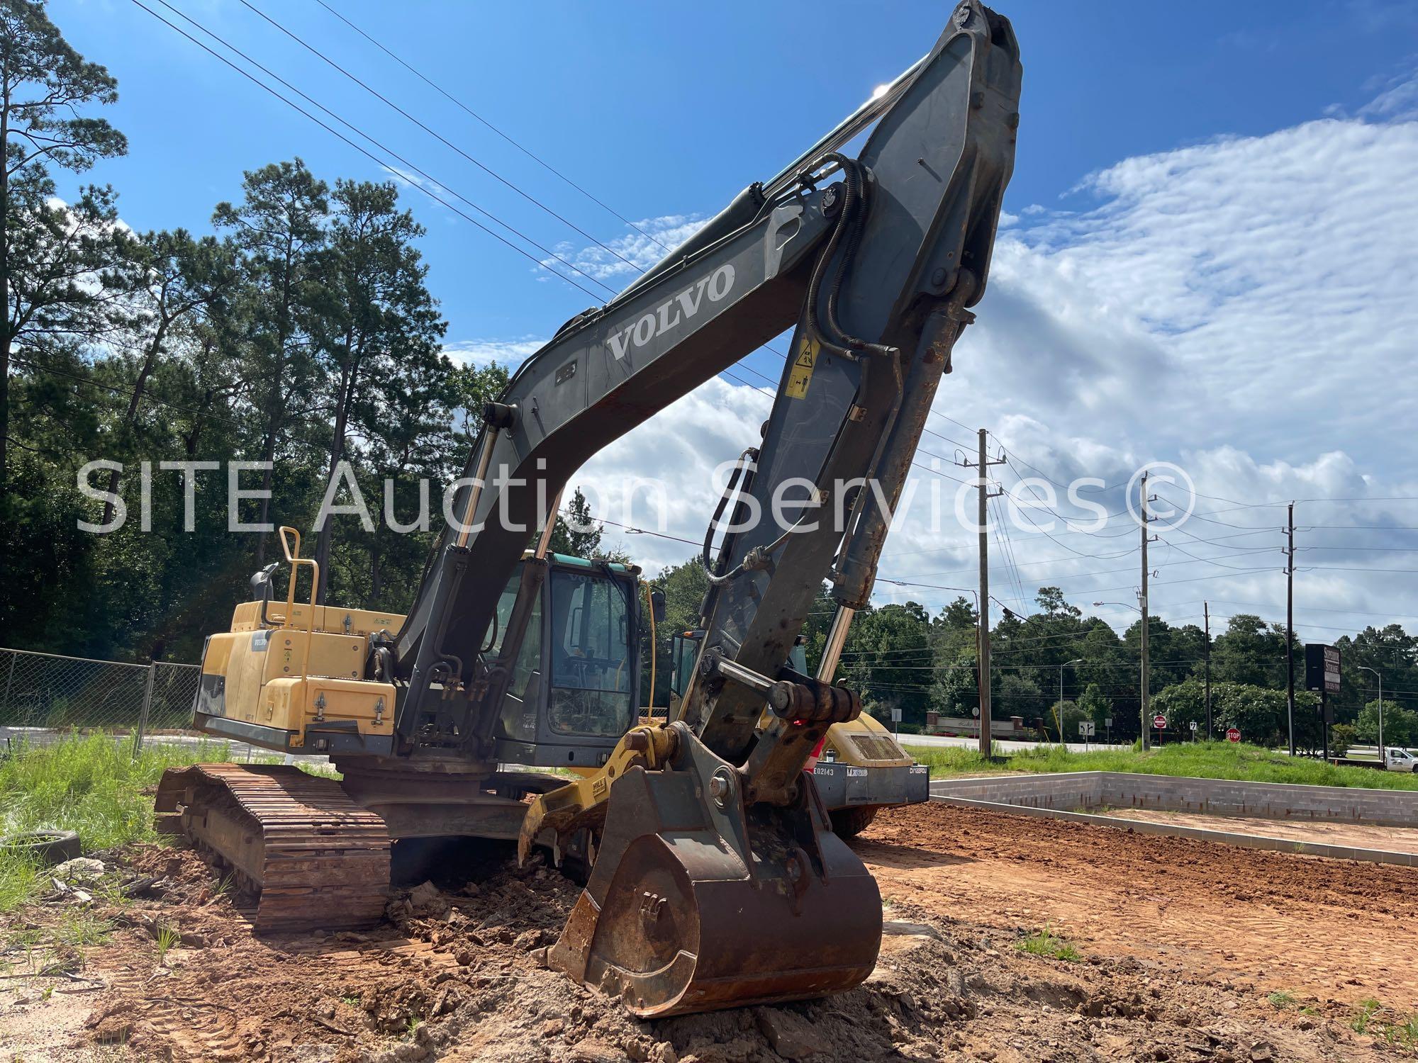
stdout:
[[828,828],[810,775],[790,808],[681,733],[614,781],[590,880],[547,962],[641,1018],[851,989],[881,945],[876,882]]

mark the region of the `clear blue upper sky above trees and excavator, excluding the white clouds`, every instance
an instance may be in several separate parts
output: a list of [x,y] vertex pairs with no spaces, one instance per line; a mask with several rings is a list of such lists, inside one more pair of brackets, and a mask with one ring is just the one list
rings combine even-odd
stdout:
[[[252,58],[546,247],[579,237],[478,171],[237,0],[173,0]],[[425,125],[608,241],[625,228],[359,38],[313,0],[254,3]],[[157,0],[149,6],[183,24]],[[332,3],[630,218],[713,213],[776,173],[925,52],[943,3]],[[397,10],[397,17],[391,13]],[[1082,177],[1218,135],[1265,133],[1357,108],[1409,62],[1411,7],[1062,3],[1001,6],[1025,65],[1007,208],[1055,206]],[[52,17],[119,79],[109,119],[129,156],[95,176],[138,228],[206,228],[241,171],[302,156],[320,176],[377,167],[128,0],[54,0]],[[183,24],[194,35],[193,27]],[[1336,48],[1336,37],[1344,47]],[[210,43],[210,41],[208,41]],[[586,296],[536,283],[526,259],[408,196],[450,339],[545,334]],[[580,241],[584,242],[584,241]],[[594,288],[594,286],[593,286]]]

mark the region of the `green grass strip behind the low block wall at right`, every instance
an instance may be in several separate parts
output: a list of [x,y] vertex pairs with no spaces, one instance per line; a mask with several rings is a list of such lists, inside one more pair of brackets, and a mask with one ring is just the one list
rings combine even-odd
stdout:
[[1289,757],[1258,746],[1229,741],[1176,743],[1147,753],[1136,750],[1069,753],[1061,746],[1041,746],[991,760],[966,747],[908,746],[906,751],[922,764],[929,764],[933,778],[1008,771],[1127,771],[1249,782],[1300,782],[1310,787],[1418,789],[1418,774],[1340,768],[1309,757]]

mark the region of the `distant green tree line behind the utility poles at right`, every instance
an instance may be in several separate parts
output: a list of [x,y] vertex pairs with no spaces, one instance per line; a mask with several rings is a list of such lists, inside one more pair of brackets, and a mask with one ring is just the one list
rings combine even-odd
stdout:
[[[669,641],[699,622],[708,585],[698,558],[671,566],[654,581],[665,594],[666,622],[659,629],[661,668],[655,704],[666,704]],[[804,625],[807,663],[817,670],[835,605],[824,587]],[[960,597],[932,614],[919,602],[868,607],[856,614],[842,648],[837,679],[861,692],[868,712],[889,719],[902,713],[902,730],[919,731],[926,713],[973,719],[980,709],[978,614]],[[1205,737],[1208,639],[1195,624],[1173,625],[1149,618],[1150,710],[1168,720],[1171,740],[1188,738],[1190,724]],[[1005,611],[990,632],[990,700],[997,720],[1021,717],[1024,726],[1058,738],[1078,740],[1078,723],[1093,720],[1105,734],[1112,720],[1115,740],[1140,731],[1141,618],[1116,632],[1098,617],[1069,605],[1058,587],[1041,587],[1029,615]],[[1418,638],[1401,625],[1367,626],[1343,635],[1343,690],[1330,694],[1336,721],[1332,744],[1377,740],[1375,680],[1384,676],[1384,738],[1418,744]],[[1305,651],[1299,639],[1289,652],[1296,669],[1296,743],[1313,751],[1323,744],[1319,696],[1305,690]],[[1255,614],[1236,614],[1210,639],[1211,706],[1215,734],[1238,727],[1246,741],[1283,746],[1289,737],[1286,704],[1285,625]],[[1061,686],[1062,685],[1062,686]],[[1062,696],[1061,696],[1062,694]]]

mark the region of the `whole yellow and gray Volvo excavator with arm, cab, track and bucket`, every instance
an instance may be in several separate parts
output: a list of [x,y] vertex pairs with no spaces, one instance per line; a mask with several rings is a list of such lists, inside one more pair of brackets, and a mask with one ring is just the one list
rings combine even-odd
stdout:
[[[196,726],[328,754],[342,780],[208,764],[157,794],[166,829],[258,894],[258,930],[380,918],[393,839],[591,839],[549,962],[635,1015],[821,996],[871,972],[881,896],[805,768],[861,713],[831,677],[984,293],[1020,78],[1010,23],[964,0],[910,69],[563,325],[484,408],[407,617],[298,602],[315,563],[282,530],[285,600],[258,573],[207,641]],[[638,723],[637,575],[549,553],[560,492],[787,329],[761,439],[705,537],[675,709]],[[808,675],[793,648],[824,580],[837,615]],[[591,772],[536,770],[553,767]]]

